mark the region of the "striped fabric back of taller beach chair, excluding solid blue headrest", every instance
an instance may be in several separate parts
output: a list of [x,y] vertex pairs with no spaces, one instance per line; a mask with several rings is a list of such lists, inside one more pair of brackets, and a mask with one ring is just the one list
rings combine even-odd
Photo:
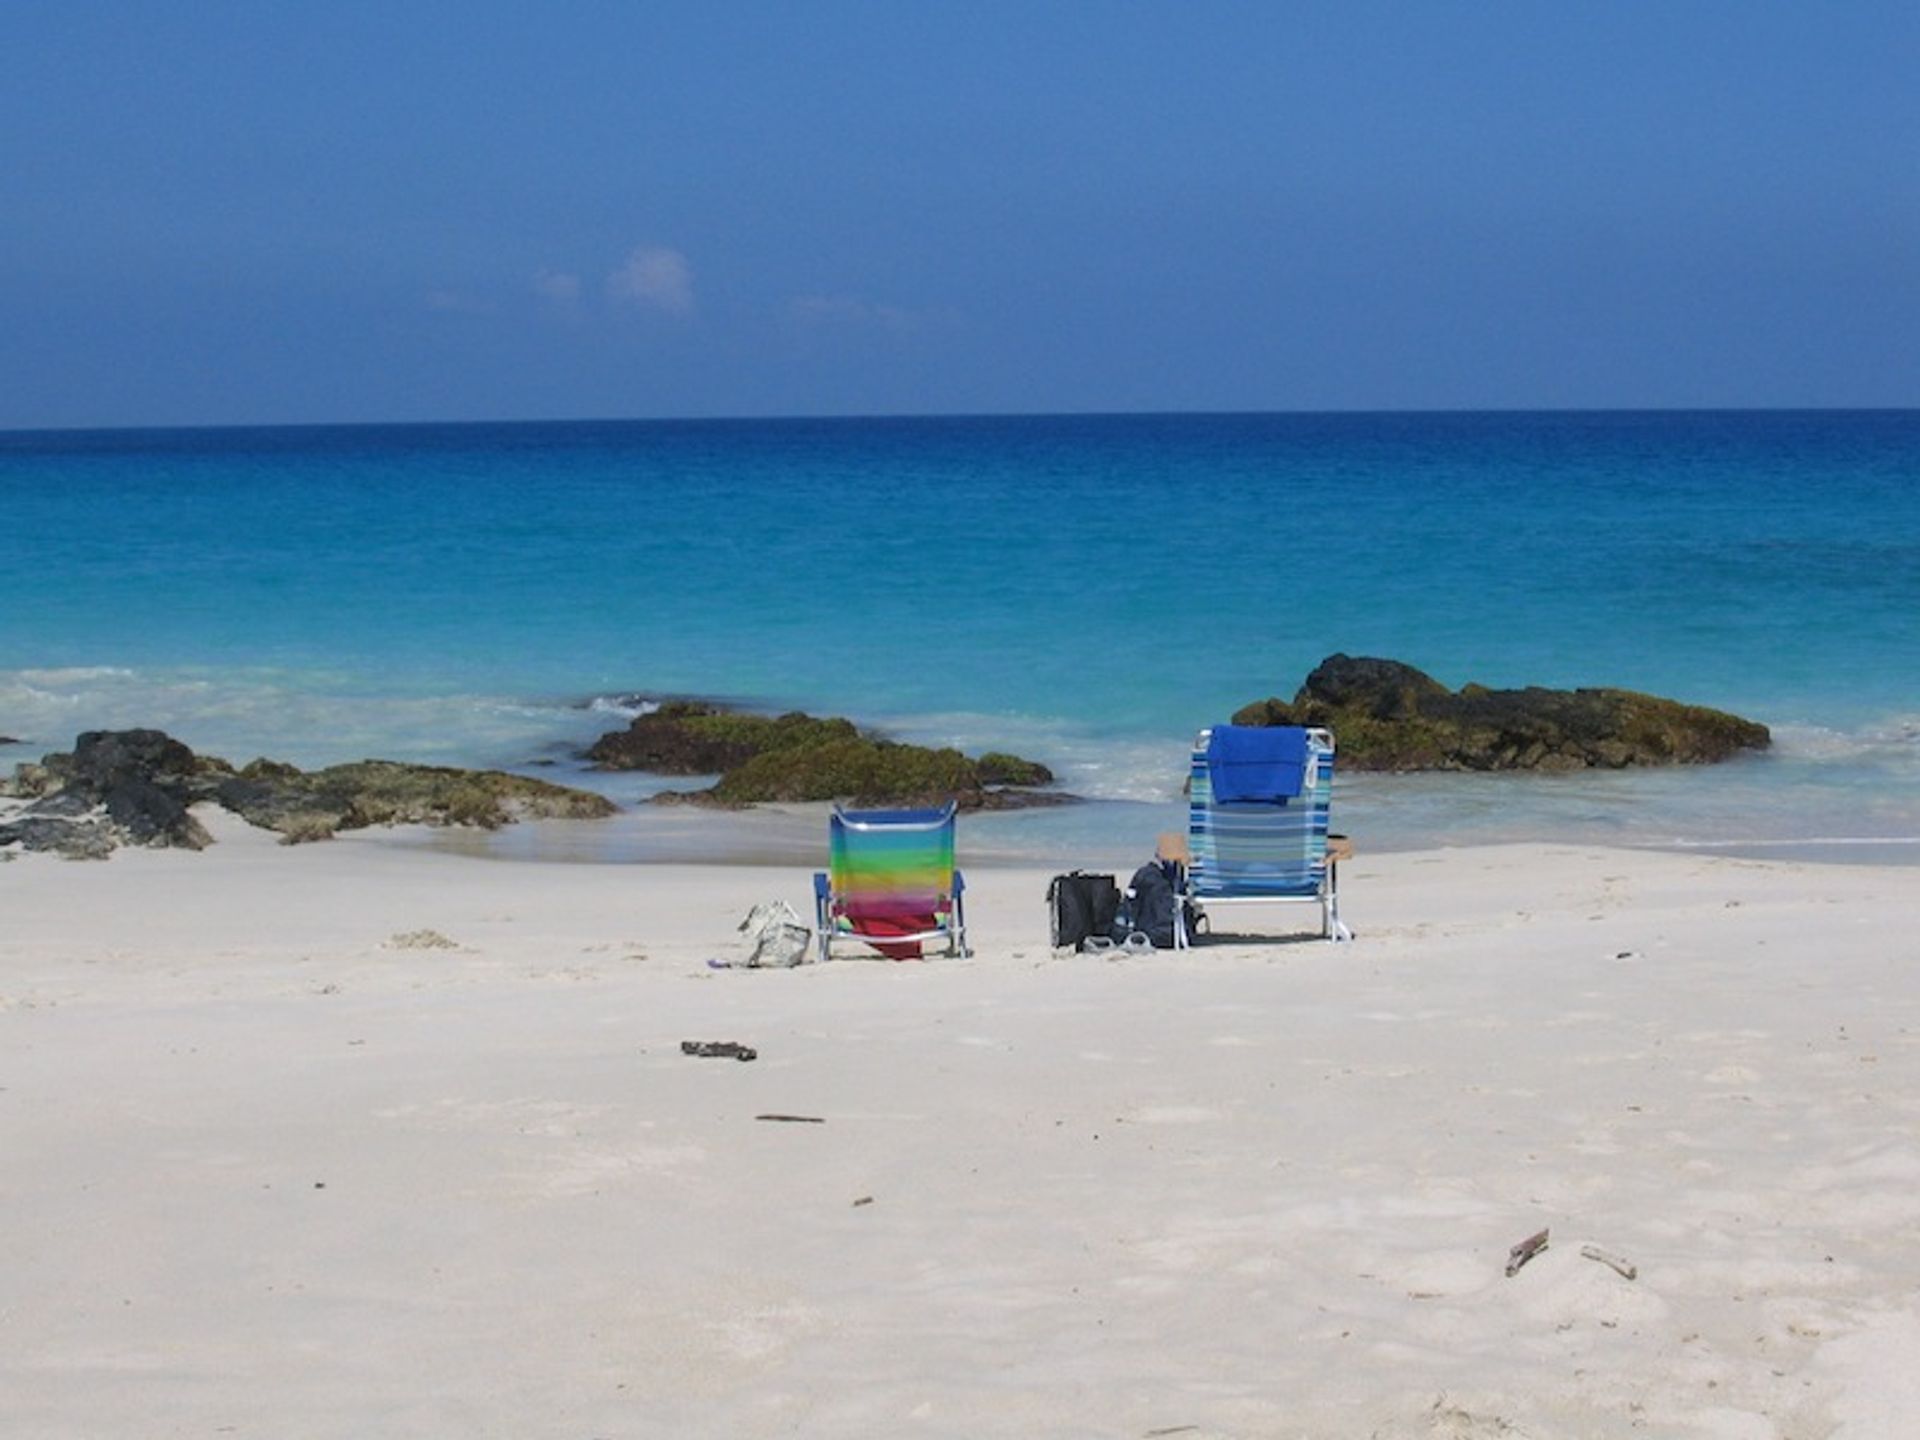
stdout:
[[[1225,728],[1221,728],[1225,730]],[[1227,739],[1225,735],[1221,739]],[[1308,897],[1327,876],[1327,820],[1332,804],[1332,732],[1290,728],[1275,735],[1304,758],[1298,793],[1284,799],[1217,801],[1215,764],[1227,747],[1213,728],[1194,741],[1187,806],[1187,874],[1196,897]]]

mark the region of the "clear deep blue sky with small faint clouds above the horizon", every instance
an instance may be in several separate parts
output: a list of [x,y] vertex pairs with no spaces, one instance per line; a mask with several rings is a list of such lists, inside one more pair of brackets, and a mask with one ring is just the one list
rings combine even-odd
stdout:
[[15,2],[0,428],[1920,405],[1920,6]]

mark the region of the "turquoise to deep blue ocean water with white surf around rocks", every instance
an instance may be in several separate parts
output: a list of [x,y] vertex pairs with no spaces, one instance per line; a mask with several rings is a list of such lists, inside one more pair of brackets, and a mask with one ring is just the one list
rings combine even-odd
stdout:
[[[574,758],[701,695],[1044,760],[981,858],[1123,862],[1194,730],[1325,655],[1624,685],[1774,730],[1724,766],[1342,776],[1375,849],[1920,864],[1920,413],[1131,415],[0,434],[0,764],[480,764],[628,814],[522,858],[818,849]],[[685,781],[670,781],[685,785]]]

